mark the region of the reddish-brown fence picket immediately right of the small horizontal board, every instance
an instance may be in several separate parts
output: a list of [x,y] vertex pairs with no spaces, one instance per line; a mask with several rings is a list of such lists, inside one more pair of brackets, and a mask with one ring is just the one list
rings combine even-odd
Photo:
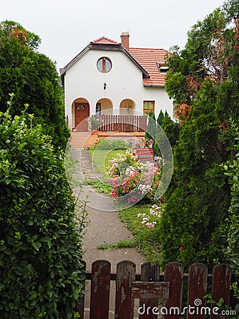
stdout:
[[[170,282],[170,295],[165,301],[165,319],[181,318],[182,308],[182,286],[183,286],[183,266],[179,262],[170,262],[166,264],[164,272],[164,281]],[[168,312],[168,314],[166,314]]]

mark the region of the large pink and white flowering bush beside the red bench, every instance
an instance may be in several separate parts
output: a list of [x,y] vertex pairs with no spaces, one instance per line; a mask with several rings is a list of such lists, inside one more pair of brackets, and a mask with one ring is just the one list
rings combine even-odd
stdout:
[[109,162],[107,174],[111,177],[108,181],[113,186],[113,198],[132,204],[144,197],[153,201],[161,182],[161,170],[156,164],[139,162],[132,150],[127,150],[125,155],[118,154]]

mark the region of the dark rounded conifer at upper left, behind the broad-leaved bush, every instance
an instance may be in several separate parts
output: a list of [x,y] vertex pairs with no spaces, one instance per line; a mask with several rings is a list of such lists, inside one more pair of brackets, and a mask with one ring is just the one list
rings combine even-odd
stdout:
[[35,52],[40,38],[12,21],[1,23],[0,36],[0,111],[8,108],[8,94],[15,94],[12,115],[21,114],[28,103],[33,121],[42,124],[54,145],[66,147],[63,91],[54,62]]

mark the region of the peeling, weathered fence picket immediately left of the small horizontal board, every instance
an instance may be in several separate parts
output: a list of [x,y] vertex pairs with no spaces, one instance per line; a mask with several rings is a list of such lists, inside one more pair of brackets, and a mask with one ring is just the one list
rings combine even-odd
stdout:
[[115,318],[134,318],[134,299],[132,298],[132,281],[135,281],[136,265],[129,260],[117,264],[115,289]]

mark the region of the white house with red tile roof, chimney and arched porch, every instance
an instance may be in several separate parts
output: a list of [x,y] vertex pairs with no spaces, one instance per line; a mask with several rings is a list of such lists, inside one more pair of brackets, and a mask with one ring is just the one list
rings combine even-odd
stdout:
[[[164,49],[129,46],[129,33],[121,43],[98,38],[60,69],[69,128],[93,114],[136,115],[168,111],[173,101],[165,91]],[[86,128],[87,130],[87,128]]]

